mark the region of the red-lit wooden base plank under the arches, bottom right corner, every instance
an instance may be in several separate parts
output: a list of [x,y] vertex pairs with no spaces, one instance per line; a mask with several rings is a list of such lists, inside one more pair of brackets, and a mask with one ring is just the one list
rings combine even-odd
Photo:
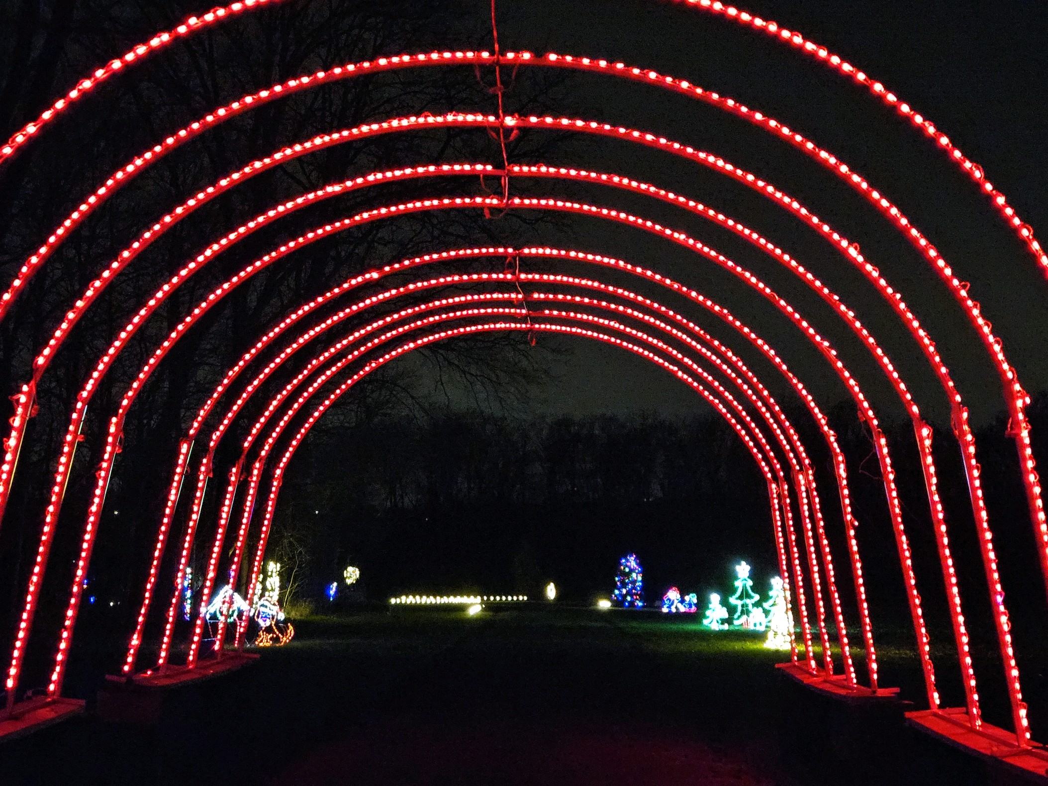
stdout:
[[920,709],[907,713],[907,723],[943,742],[999,765],[1031,783],[1048,784],[1048,748],[1033,744],[1020,747],[1016,735],[983,722],[978,729],[968,724],[967,712],[952,709]]

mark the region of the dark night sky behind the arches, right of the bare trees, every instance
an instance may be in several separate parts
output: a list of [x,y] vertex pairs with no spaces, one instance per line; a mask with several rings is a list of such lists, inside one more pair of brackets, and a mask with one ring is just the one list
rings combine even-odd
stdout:
[[[486,10],[486,3],[477,5],[478,13]],[[1044,242],[1048,235],[1048,6],[1016,0],[992,4],[764,0],[746,7],[826,45],[924,112],[984,167],[988,179],[1040,230]],[[724,19],[670,3],[503,0],[499,20],[504,49],[588,54],[685,78],[783,121],[837,154],[893,199],[960,277],[973,282],[976,300],[1004,340],[1027,390],[1048,389],[1048,364],[1043,361],[1048,287],[1032,257],[967,178],[922,134],[865,90],[791,48]],[[564,97],[566,115],[653,131],[716,152],[800,198],[858,241],[864,255],[889,282],[898,284],[946,358],[976,424],[1003,410],[1000,385],[985,351],[945,287],[887,220],[827,171],[740,119],[653,87],[578,75],[570,80]],[[514,110],[512,102],[510,88],[507,111]],[[602,140],[582,149],[571,162],[628,174],[697,198],[777,242],[856,310],[914,391],[925,418],[945,424],[944,396],[917,345],[872,287],[785,211],[696,165],[625,143]],[[570,193],[564,184],[548,181],[521,183],[516,190]],[[770,258],[711,223],[651,200],[631,199],[612,190],[588,189],[577,195],[683,228],[754,270],[840,350],[882,420],[902,417],[898,399],[844,323]],[[847,397],[844,386],[795,328],[727,274],[635,230],[589,219],[572,219],[572,223],[569,236],[554,232],[547,241],[667,270],[750,322],[781,348],[821,401],[833,403]],[[658,297],[696,315],[696,307],[667,294]],[[789,400],[769,364],[712,318],[703,316],[700,323],[739,348],[772,392]],[[550,337],[541,341],[556,344]],[[627,353],[577,341],[569,342],[568,350],[567,357],[543,357],[558,381],[536,389],[537,411],[691,413],[704,407],[684,386]],[[621,385],[624,379],[627,385]]]

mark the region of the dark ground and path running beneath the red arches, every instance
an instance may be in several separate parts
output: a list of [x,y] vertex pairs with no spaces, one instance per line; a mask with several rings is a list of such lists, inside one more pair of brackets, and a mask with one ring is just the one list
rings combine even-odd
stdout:
[[553,606],[299,624],[149,727],[0,746],[15,784],[987,784],[981,763],[773,669],[757,636]]

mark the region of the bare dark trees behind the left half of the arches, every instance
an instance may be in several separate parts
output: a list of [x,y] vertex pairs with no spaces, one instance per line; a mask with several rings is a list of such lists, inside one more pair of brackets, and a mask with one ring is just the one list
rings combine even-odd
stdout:
[[[56,94],[69,89],[84,73],[148,40],[157,30],[173,29],[200,10],[197,0],[15,0],[0,4],[0,138],[6,139],[37,117]],[[26,258],[101,182],[168,134],[245,93],[292,77],[381,56],[431,51],[458,41],[463,46],[488,42],[486,7],[479,14],[474,10],[454,0],[283,2],[179,41],[137,64],[133,73],[92,91],[70,116],[58,119],[0,170],[2,286],[7,286]],[[541,108],[562,81],[555,74],[521,74],[507,89],[506,111]],[[34,355],[84,288],[143,231],[176,205],[253,160],[316,134],[425,112],[494,111],[496,101],[489,92],[493,82],[494,73],[484,69],[454,67],[332,82],[285,95],[230,119],[146,169],[69,234],[0,325],[0,422],[6,428],[10,412],[7,396],[29,378]],[[556,144],[554,135],[521,134],[509,141],[508,148],[510,155],[541,159],[544,151]],[[378,135],[311,152],[245,179],[200,208],[112,280],[54,355],[38,386],[39,411],[28,427],[0,529],[0,640],[10,640],[21,611],[73,397],[140,304],[209,244],[285,200],[376,170],[461,161],[501,166],[502,156],[498,144],[484,131],[454,129]],[[436,177],[347,193],[284,216],[201,265],[144,323],[88,407],[37,628],[52,629],[64,607],[61,596],[67,592],[72,575],[101,434],[128,385],[184,314],[223,281],[275,246],[325,222],[393,202],[446,194],[494,193],[497,188],[497,181]],[[233,291],[166,357],[129,413],[90,574],[99,591],[115,598],[114,608],[122,612],[137,605],[179,435],[184,434],[209,392],[259,335],[298,305],[365,269],[434,249],[516,242],[514,238],[524,227],[544,220],[509,216],[494,221],[480,212],[453,211],[380,221],[310,245],[308,250],[260,270]],[[489,261],[483,264],[485,269],[490,266]],[[364,297],[364,292],[379,291],[395,285],[394,279],[354,293]],[[332,302],[318,309],[311,319],[323,320],[346,305],[345,300]],[[403,305],[401,302],[398,307]],[[383,310],[373,309],[365,316]],[[343,329],[352,331],[361,324],[361,320],[350,321]],[[287,335],[260,356],[261,365],[250,375],[293,335]],[[470,376],[482,366],[484,374],[478,377],[478,384],[484,385],[526,366],[521,362],[522,346],[519,336],[488,335],[425,354],[452,376]],[[286,364],[260,390],[260,399],[264,401],[280,390],[311,356],[309,351],[301,352]],[[453,367],[449,361],[454,361]],[[361,395],[368,400],[395,398],[396,374],[391,369],[384,374],[384,383],[372,385],[369,380],[362,385]],[[249,378],[246,376],[241,384]],[[234,397],[238,394],[232,392]],[[231,400],[227,396],[213,413],[198,441],[194,461],[202,456],[201,443]],[[262,408],[264,403],[247,407],[219,451],[217,466],[227,467],[236,460],[237,443]],[[215,492],[216,485],[212,486],[212,497],[220,494]],[[205,538],[215,519],[214,505],[211,499],[205,509]],[[176,526],[181,531],[184,508],[179,508],[177,518]],[[170,551],[166,576],[173,574],[171,563],[177,559],[171,558]],[[163,586],[168,586],[166,580]],[[34,640],[30,663],[38,661],[38,651],[52,647],[50,640]],[[31,683],[32,678],[27,682]]]

